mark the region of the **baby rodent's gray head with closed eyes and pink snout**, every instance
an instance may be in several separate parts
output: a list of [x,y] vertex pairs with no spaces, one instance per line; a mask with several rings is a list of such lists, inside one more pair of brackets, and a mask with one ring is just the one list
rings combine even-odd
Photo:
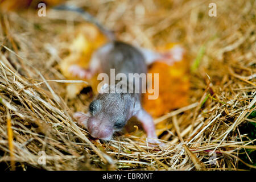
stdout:
[[100,92],[89,105],[89,115],[76,118],[93,138],[110,140],[115,131],[126,125],[133,106],[130,94]]

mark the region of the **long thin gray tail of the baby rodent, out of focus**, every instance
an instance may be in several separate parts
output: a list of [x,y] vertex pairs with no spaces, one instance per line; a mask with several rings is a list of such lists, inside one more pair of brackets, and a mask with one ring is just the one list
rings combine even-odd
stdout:
[[112,31],[106,29],[104,26],[102,26],[97,19],[95,19],[91,14],[89,14],[88,12],[86,12],[85,10],[81,9],[80,7],[77,7],[75,5],[67,5],[67,4],[63,4],[63,5],[59,5],[59,6],[55,6],[53,7],[53,9],[55,10],[66,10],[66,11],[73,11],[75,13],[78,13],[82,16],[82,18],[84,18],[86,21],[95,24],[100,31],[105,34],[110,40],[115,40],[115,35]]

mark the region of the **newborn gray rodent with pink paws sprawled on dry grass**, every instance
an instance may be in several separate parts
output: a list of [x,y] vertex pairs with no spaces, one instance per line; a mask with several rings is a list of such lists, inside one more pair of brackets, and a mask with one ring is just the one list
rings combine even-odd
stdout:
[[[98,73],[106,73],[110,76],[110,69],[115,74],[124,73],[127,78],[129,73],[147,73],[147,65],[154,61],[162,60],[171,65],[183,57],[183,48],[174,47],[169,52],[158,53],[142,47],[135,47],[129,43],[115,39],[113,32],[102,27],[92,15],[74,6],[61,5],[55,7],[57,10],[75,11],[81,16],[96,24],[97,27],[109,38],[109,42],[98,48],[90,59],[89,68],[84,69],[78,65],[72,65],[69,71],[73,76],[81,79],[90,79]],[[134,80],[127,80],[126,86]],[[115,83],[116,84],[116,83]],[[147,133],[149,143],[160,143],[157,140],[153,119],[141,105],[141,89],[139,93],[105,92],[111,86],[104,84],[95,100],[89,105],[89,113],[77,112],[73,117],[78,123],[85,126],[93,138],[110,140],[115,131],[121,131],[127,121],[135,116],[142,123]],[[127,88],[129,89],[129,88]]]

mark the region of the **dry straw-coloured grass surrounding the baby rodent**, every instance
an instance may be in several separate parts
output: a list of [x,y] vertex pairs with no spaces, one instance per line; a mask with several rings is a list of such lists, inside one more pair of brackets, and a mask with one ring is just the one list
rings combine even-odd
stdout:
[[[68,100],[58,81],[65,80],[58,63],[81,21],[0,13],[0,163],[47,170],[240,169],[239,154],[255,150],[256,140],[239,131],[255,122],[247,118],[256,102],[255,1],[214,1],[217,17],[208,16],[212,1],[73,2],[123,41],[147,48],[182,43],[191,60],[191,105],[155,119],[173,126],[162,138],[166,148],[150,148],[132,134],[92,140],[71,117],[91,98]],[[40,151],[46,165],[38,164]]]

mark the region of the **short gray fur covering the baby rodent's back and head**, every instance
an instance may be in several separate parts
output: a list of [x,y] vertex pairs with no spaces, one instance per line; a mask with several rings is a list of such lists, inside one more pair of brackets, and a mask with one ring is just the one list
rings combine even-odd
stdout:
[[[108,43],[100,48],[97,54],[101,72],[108,74],[109,77],[110,69],[115,69],[115,74],[125,73],[127,78],[129,73],[147,72],[142,53],[129,44],[117,41]],[[94,117],[105,122],[104,125],[112,127],[117,121],[123,121],[124,126],[136,110],[141,109],[141,93],[103,93],[98,94],[96,100],[100,101],[101,109]]]

